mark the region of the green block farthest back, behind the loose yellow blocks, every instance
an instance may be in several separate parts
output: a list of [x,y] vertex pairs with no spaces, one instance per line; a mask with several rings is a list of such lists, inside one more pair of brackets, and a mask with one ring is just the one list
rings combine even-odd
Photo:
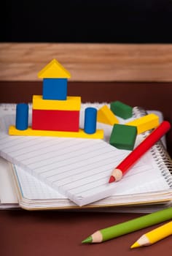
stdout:
[[131,108],[130,106],[118,100],[115,102],[111,102],[110,109],[112,110],[114,115],[124,119],[130,118],[133,116],[133,108]]

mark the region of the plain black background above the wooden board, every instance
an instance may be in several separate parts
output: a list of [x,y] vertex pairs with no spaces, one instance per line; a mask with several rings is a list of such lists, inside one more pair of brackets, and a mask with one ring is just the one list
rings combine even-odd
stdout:
[[1,42],[169,43],[171,31],[172,0],[8,0],[1,4]]

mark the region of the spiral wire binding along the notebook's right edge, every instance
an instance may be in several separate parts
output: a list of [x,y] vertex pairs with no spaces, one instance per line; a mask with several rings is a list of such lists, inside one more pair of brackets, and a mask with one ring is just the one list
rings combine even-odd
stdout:
[[[147,112],[143,108],[140,107],[134,107],[133,108],[133,116],[135,118],[140,118],[141,116],[146,116]],[[143,132],[141,135],[146,138],[147,135],[149,135],[151,132],[146,131]],[[155,143],[154,146],[151,148],[152,157],[154,157],[155,162],[157,162],[157,166],[160,168],[160,171],[162,175],[165,178],[165,181],[167,181],[169,187],[172,188],[172,160],[169,156],[168,152],[166,151],[165,147],[163,146],[163,143],[161,140],[159,140],[157,143]]]

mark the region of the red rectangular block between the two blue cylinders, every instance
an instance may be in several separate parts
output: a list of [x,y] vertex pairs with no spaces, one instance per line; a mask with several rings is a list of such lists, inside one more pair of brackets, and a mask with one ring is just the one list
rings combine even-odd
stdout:
[[79,111],[32,110],[32,129],[78,132]]

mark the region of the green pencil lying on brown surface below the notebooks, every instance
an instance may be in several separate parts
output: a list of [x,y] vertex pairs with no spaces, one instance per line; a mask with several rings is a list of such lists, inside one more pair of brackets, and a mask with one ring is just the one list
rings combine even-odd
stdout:
[[123,222],[112,227],[106,227],[98,230],[91,236],[82,241],[83,244],[101,243],[103,241],[116,238],[136,230],[141,230],[144,227],[156,225],[166,220],[172,219],[172,207],[165,210],[156,211],[152,214],[146,214],[136,219],[131,219],[128,222]]

